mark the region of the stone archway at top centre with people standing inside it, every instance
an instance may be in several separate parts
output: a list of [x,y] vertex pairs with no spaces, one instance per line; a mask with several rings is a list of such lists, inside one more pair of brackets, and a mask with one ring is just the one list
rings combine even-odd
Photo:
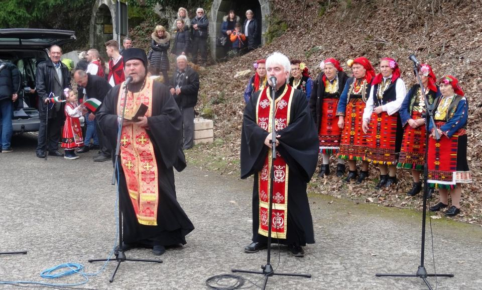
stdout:
[[213,59],[219,59],[224,56],[224,50],[216,46],[216,39],[221,34],[222,18],[231,9],[241,18],[242,23],[246,19],[246,11],[251,9],[258,21],[258,27],[261,27],[261,43],[265,43],[264,34],[268,30],[268,17],[271,14],[271,3],[269,0],[214,0],[211,6],[211,18],[209,19],[209,43]]

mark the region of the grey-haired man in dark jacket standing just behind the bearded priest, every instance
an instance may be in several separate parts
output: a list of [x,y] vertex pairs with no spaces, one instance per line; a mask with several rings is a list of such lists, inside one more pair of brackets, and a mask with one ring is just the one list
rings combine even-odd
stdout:
[[199,91],[199,74],[187,66],[187,57],[180,55],[176,59],[177,70],[173,73],[171,94],[174,96],[183,119],[183,149],[190,149],[194,142],[194,106]]

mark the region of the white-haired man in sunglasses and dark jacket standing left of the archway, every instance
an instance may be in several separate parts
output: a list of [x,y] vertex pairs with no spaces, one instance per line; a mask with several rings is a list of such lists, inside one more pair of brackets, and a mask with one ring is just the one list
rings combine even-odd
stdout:
[[207,58],[207,27],[209,19],[204,15],[204,9],[196,10],[196,17],[191,20],[192,33],[192,62],[197,64],[197,54],[201,55],[201,63],[206,64]]

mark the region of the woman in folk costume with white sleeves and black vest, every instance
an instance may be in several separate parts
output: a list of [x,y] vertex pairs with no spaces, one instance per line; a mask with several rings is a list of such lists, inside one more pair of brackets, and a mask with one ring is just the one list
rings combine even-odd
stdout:
[[363,131],[368,135],[367,161],[380,168],[380,181],[375,189],[397,182],[397,153],[403,138],[398,111],[406,95],[405,82],[394,59],[382,58],[380,71],[372,81],[363,113]]

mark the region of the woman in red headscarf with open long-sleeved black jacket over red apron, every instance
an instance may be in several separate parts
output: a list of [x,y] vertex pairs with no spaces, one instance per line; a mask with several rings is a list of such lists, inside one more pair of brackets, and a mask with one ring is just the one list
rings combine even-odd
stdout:
[[[338,127],[336,108],[341,92],[348,76],[334,58],[327,58],[320,63],[323,70],[313,82],[310,96],[310,111],[316,123],[320,153],[323,159],[318,177],[330,174],[330,155],[338,153],[340,148],[341,129]],[[344,160],[338,158],[336,176],[341,177],[345,172]]]

